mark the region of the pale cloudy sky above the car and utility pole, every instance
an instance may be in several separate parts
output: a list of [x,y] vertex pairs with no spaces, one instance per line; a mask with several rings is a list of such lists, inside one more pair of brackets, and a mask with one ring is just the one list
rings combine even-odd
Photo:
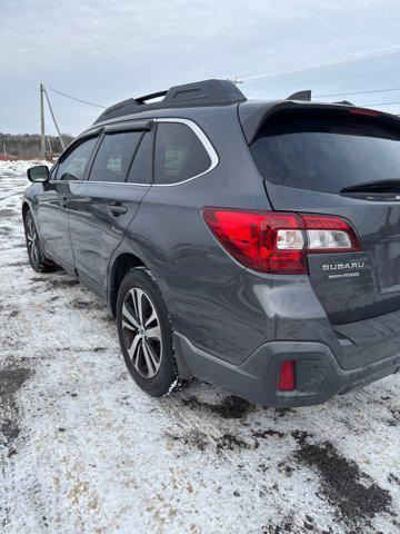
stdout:
[[[399,0],[1,0],[0,131],[39,132],[39,85],[110,106],[208,78],[242,79],[397,49]],[[397,57],[248,79],[248,98],[400,88]],[[63,132],[101,109],[49,91]],[[400,113],[400,90],[348,97]],[[54,134],[46,110],[46,128]]]

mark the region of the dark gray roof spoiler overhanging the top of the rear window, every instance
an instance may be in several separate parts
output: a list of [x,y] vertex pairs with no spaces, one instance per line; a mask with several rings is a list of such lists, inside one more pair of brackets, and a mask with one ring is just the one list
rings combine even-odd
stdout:
[[[326,102],[309,102],[309,101],[296,101],[296,100],[276,100],[271,102],[261,102],[261,101],[247,101],[239,105],[239,120],[246,137],[248,145],[251,145],[256,137],[258,136],[262,125],[266,120],[274,115],[277,111],[287,110],[287,109],[327,109],[327,110],[349,110],[351,112],[357,112],[361,108],[354,108],[351,102],[337,102],[337,103],[326,103]],[[367,111],[377,113],[377,116],[387,118],[390,120],[399,121],[399,117],[391,113],[384,113],[383,111],[373,111],[366,109]]]

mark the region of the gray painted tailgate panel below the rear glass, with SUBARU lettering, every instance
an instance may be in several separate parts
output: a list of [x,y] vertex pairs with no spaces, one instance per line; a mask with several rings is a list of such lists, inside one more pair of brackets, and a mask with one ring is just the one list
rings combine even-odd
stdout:
[[271,184],[268,191],[277,210],[344,217],[360,237],[360,253],[308,256],[312,287],[333,324],[400,309],[400,202],[341,199],[311,191],[299,196],[292,188]]

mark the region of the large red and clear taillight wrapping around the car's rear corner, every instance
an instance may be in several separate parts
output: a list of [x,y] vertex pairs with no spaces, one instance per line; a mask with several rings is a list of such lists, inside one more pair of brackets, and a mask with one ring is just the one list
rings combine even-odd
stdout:
[[361,249],[356,230],[340,217],[223,208],[203,208],[202,215],[233,258],[260,273],[306,275],[308,253]]

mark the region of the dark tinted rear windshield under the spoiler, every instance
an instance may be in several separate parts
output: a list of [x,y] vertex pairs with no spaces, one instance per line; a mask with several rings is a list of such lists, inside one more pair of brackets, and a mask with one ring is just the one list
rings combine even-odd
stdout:
[[291,111],[266,122],[250,149],[266,179],[338,194],[369,181],[400,179],[400,128],[348,111]]

